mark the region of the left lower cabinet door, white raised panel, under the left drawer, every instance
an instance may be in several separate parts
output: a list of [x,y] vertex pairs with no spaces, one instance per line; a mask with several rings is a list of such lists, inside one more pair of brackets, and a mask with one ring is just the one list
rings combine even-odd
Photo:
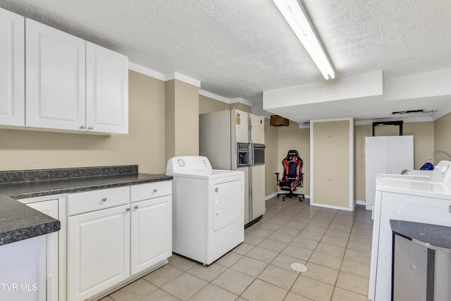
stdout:
[[130,276],[130,205],[68,217],[68,300],[85,300]]

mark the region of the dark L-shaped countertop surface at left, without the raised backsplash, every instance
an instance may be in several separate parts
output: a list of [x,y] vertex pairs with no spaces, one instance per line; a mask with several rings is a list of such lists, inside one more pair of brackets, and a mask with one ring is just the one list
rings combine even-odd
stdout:
[[60,221],[17,199],[138,185],[172,180],[171,176],[135,173],[65,180],[42,180],[0,185],[0,245],[45,235],[61,229]]

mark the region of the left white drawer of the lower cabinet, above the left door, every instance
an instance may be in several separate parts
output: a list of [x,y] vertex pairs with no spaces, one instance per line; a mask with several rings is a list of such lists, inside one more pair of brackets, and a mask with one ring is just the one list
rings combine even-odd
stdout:
[[68,216],[115,207],[130,202],[130,186],[68,195]]

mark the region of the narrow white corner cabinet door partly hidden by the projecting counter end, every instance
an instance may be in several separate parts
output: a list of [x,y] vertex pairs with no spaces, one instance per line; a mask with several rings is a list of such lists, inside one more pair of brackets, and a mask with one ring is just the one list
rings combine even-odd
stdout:
[[[27,206],[58,219],[58,199],[35,202]],[[58,300],[58,232],[46,235],[46,300]]]

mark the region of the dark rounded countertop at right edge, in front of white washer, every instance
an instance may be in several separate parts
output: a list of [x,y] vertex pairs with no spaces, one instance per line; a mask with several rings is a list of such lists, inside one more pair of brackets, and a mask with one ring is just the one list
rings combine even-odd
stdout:
[[451,227],[390,219],[394,233],[429,249],[451,252]]

